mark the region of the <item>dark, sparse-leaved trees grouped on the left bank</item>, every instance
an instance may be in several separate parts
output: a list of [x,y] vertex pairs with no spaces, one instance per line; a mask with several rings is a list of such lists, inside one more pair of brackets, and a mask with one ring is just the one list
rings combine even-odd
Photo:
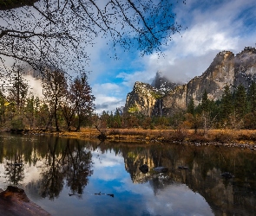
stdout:
[[44,67],[39,77],[43,87],[40,98],[31,92],[21,66],[14,64],[5,75],[1,80],[5,86],[0,92],[2,128],[80,130],[95,110],[95,97],[86,73],[73,78],[61,70]]

